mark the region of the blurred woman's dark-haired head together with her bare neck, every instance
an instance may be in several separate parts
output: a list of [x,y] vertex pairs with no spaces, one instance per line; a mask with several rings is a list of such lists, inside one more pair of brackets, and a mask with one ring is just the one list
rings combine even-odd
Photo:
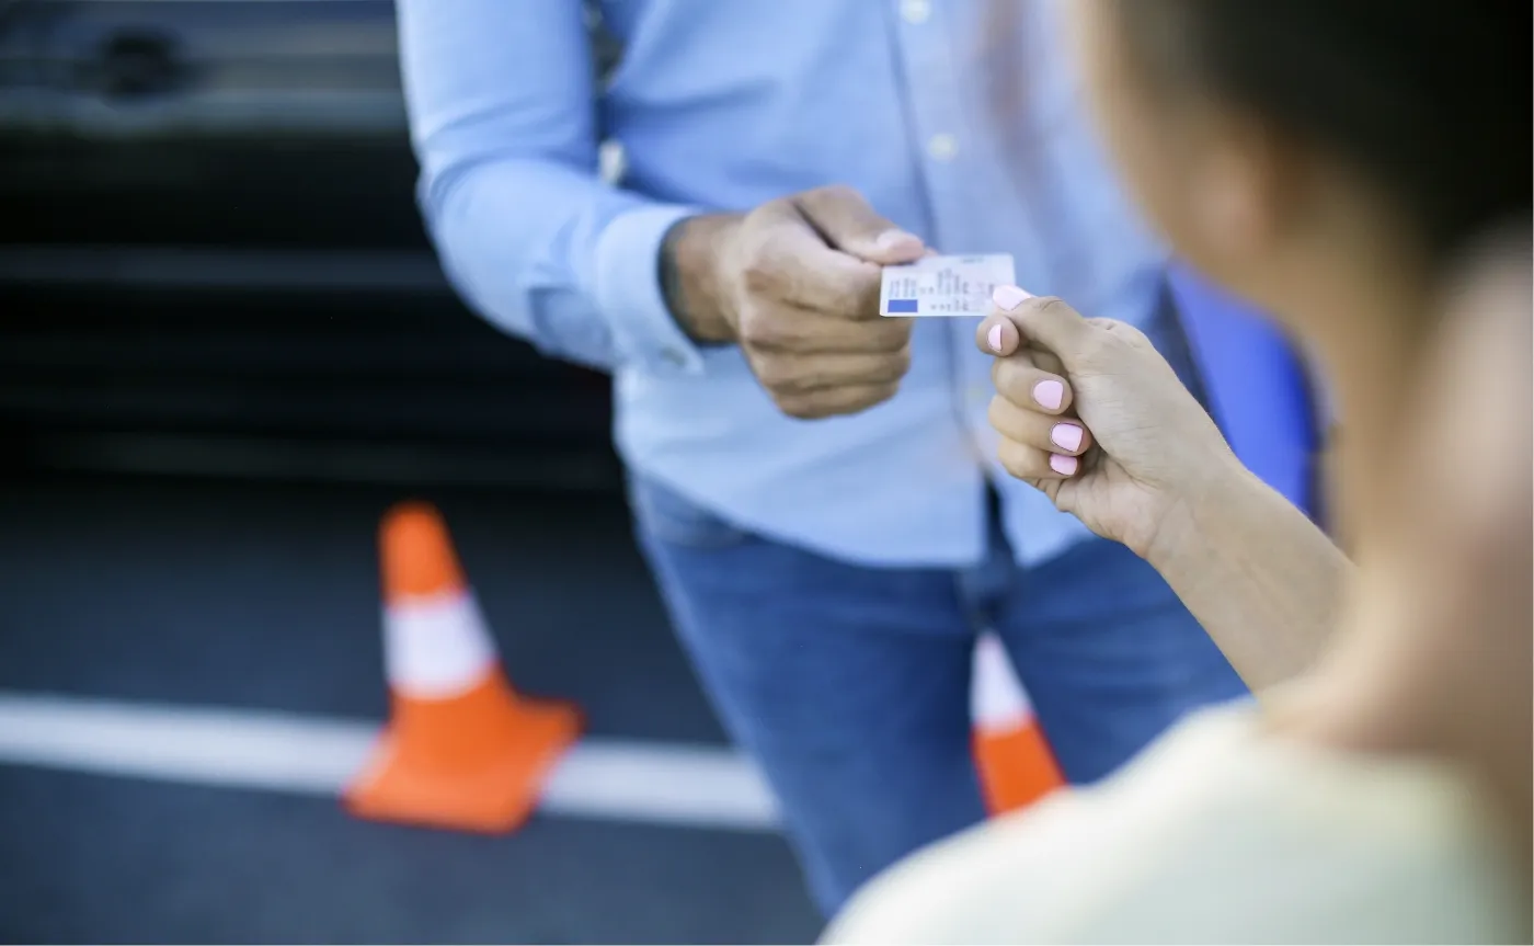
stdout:
[[1072,9],[1149,215],[1204,272],[1330,346],[1332,381],[1362,395],[1345,444],[1370,468],[1353,464],[1344,504],[1370,508],[1368,548],[1322,728],[1468,762],[1528,837],[1529,8]]

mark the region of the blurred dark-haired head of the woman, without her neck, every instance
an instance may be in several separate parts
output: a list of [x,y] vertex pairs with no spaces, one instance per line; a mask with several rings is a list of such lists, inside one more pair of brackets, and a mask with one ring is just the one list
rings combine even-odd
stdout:
[[1318,286],[1431,273],[1528,213],[1522,3],[1072,9],[1104,134],[1149,215],[1178,253],[1299,329]]

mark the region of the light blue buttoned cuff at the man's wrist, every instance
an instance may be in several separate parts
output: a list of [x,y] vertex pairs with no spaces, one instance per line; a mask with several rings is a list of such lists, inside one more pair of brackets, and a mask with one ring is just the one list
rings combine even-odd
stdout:
[[700,213],[673,204],[629,210],[597,240],[597,307],[612,329],[618,362],[653,375],[703,375],[703,355],[681,330],[661,290],[666,232]]

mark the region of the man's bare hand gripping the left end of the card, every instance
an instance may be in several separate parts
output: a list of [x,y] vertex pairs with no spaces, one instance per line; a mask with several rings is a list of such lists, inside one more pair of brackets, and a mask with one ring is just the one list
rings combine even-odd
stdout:
[[879,315],[879,267],[925,247],[848,187],[690,218],[664,252],[681,324],[700,341],[738,342],[788,416],[873,407],[910,367],[911,319]]

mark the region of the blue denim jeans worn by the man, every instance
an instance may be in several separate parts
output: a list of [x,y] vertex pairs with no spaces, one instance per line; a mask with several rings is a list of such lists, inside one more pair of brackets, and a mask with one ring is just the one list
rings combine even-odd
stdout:
[[1246,693],[1166,582],[1114,542],[1025,570],[996,528],[979,568],[865,568],[744,531],[653,481],[634,478],[630,499],[676,633],[765,771],[827,915],[985,815],[968,716],[979,628],[1005,642],[1077,783]]

